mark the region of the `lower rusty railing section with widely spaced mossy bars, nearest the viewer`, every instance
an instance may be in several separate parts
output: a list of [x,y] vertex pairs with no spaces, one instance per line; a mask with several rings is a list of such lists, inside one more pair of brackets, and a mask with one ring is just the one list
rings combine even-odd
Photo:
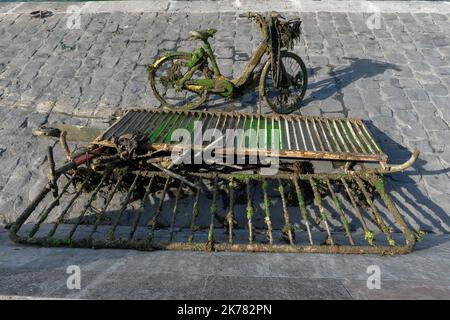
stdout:
[[[191,173],[79,168],[45,186],[13,224],[45,246],[403,254],[415,238],[385,189],[363,174]],[[89,188],[88,188],[89,185]]]

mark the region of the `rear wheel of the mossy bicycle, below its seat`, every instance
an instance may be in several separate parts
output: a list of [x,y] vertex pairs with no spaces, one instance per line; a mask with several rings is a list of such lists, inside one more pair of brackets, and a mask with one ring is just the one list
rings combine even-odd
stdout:
[[[207,97],[206,89],[190,91],[179,88],[176,82],[190,70],[187,63],[191,60],[189,53],[177,53],[161,59],[149,69],[148,79],[156,99],[162,107],[171,110],[191,110],[203,104]],[[191,79],[209,78],[208,68],[198,69]]]

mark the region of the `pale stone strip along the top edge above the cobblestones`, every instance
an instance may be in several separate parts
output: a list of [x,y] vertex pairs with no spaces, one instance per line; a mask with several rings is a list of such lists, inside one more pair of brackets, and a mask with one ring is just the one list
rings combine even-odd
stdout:
[[376,7],[381,13],[450,13],[449,1],[365,1],[365,0],[147,0],[147,1],[101,1],[101,2],[20,2],[0,3],[0,14],[22,14],[33,10],[50,10],[67,13],[69,6],[83,7],[83,13],[121,12],[184,12],[218,13],[270,11],[279,12],[367,12]]

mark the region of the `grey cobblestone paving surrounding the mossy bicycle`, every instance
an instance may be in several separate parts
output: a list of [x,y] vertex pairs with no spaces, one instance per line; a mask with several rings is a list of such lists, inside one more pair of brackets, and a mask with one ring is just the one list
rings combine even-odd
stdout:
[[[274,8],[303,19],[304,41],[295,51],[310,85],[299,112],[367,120],[392,162],[418,148],[414,167],[390,177],[388,186],[414,228],[448,233],[449,4],[386,2],[369,10],[351,1],[249,3],[98,4],[83,7],[80,29],[67,28],[67,4],[0,4],[0,223],[12,221],[46,179],[49,141],[32,137],[33,128],[55,121],[106,127],[117,110],[155,106],[146,67],[163,49],[197,46],[189,30],[216,27],[220,68],[236,76],[261,40],[237,12]],[[33,19],[28,13],[36,8],[55,14]],[[369,28],[368,18],[375,25],[380,18],[379,26]],[[212,107],[257,110],[257,92]]]

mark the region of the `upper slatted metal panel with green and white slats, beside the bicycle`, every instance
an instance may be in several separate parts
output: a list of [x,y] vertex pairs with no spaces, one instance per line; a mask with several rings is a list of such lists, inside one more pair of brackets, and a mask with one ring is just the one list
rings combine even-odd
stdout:
[[[328,160],[385,162],[387,156],[376,144],[363,121],[349,118],[324,118],[299,115],[257,115],[233,112],[130,110],[96,143],[111,146],[113,136],[129,133],[148,135],[155,149],[170,149],[172,134],[177,128],[194,134],[195,121],[202,131],[218,129],[254,129],[256,139],[235,142],[233,152],[248,153],[257,149],[268,152],[279,145],[281,157]],[[200,147],[204,147],[202,145]],[[229,151],[225,150],[224,153]]]

